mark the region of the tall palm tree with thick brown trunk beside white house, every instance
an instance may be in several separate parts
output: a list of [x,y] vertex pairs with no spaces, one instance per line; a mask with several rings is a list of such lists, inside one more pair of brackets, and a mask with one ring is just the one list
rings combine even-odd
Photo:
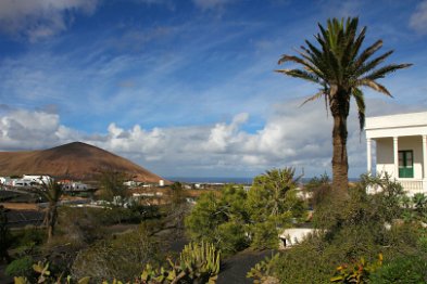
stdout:
[[319,98],[325,99],[334,118],[332,130],[332,190],[348,189],[348,155],[347,155],[347,118],[350,111],[350,99],[354,98],[359,109],[361,130],[365,124],[365,101],[361,87],[368,87],[375,91],[391,96],[390,92],[377,79],[412,64],[379,65],[393,51],[388,51],[377,57],[373,54],[382,47],[382,40],[377,40],[367,49],[361,51],[365,39],[366,27],[357,34],[359,18],[328,20],[327,29],[321,24],[321,34],[315,36],[319,47],[305,40],[306,47],[297,52],[299,56],[281,55],[278,64],[292,62],[301,68],[276,70],[284,75],[301,78],[319,85],[319,91],[304,103]]

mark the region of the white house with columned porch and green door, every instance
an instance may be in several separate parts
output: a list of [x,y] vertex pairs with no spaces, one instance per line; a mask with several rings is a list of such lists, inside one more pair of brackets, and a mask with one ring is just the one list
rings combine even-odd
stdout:
[[409,195],[427,194],[427,112],[367,117],[365,131],[367,171],[388,172]]

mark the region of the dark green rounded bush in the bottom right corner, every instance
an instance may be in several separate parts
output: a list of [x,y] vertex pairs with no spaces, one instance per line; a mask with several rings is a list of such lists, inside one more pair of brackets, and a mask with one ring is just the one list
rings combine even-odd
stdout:
[[416,255],[395,258],[373,273],[369,283],[427,283],[427,258]]

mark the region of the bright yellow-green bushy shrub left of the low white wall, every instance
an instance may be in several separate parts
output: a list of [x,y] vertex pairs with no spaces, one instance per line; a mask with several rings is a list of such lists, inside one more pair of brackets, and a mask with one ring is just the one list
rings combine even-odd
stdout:
[[297,196],[298,181],[293,168],[273,169],[255,177],[248,193],[227,185],[219,196],[202,194],[186,218],[187,232],[191,240],[215,244],[224,255],[249,245],[277,248],[278,230],[306,212],[305,203]]

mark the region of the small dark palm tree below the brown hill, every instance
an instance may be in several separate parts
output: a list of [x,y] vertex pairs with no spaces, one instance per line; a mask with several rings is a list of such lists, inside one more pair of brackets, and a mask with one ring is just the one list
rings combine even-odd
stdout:
[[61,184],[50,179],[47,183],[42,181],[40,195],[48,201],[48,211],[45,215],[43,224],[48,228],[48,243],[52,240],[54,227],[58,219],[58,202],[63,193]]

